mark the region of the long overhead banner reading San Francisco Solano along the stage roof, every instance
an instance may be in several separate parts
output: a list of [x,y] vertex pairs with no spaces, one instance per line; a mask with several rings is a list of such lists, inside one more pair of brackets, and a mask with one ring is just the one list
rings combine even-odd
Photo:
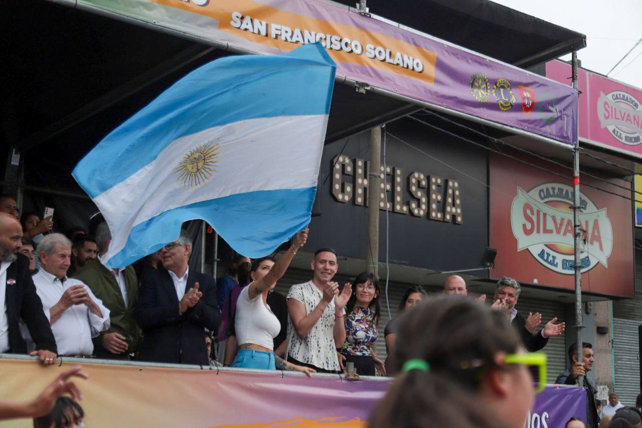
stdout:
[[261,54],[321,42],[336,76],[573,144],[577,91],[322,0],[78,0]]

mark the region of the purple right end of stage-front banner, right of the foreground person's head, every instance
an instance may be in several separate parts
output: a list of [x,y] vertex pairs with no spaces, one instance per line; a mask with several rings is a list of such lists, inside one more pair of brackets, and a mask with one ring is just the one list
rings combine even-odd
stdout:
[[535,396],[526,428],[563,427],[573,416],[586,421],[586,391],[579,386],[547,386]]

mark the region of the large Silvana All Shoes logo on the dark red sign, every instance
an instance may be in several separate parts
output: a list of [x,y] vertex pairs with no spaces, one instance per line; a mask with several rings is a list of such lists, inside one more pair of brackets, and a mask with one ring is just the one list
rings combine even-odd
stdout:
[[[551,271],[572,275],[573,265],[573,188],[567,184],[546,183],[528,192],[517,188],[510,208],[510,225],[517,239],[517,251],[527,250],[537,262]],[[580,192],[582,230],[582,272],[598,263],[608,267],[613,249],[613,229],[606,208]]]

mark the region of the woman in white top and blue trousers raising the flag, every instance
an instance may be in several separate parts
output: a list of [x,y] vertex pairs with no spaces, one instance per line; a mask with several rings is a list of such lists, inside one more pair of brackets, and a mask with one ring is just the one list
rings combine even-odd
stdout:
[[286,362],[274,355],[273,339],[281,330],[279,319],[272,313],[267,303],[268,293],[285,274],[297,250],[308,240],[308,231],[295,236],[290,249],[279,258],[264,257],[252,263],[250,276],[252,282],[241,290],[236,302],[234,332],[239,350],[232,367],[263,370],[295,370],[306,375],[315,370]]

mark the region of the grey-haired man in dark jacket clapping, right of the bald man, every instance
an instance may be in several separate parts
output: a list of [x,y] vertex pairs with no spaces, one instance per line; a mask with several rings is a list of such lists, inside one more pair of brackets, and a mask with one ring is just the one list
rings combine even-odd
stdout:
[[542,330],[535,332],[535,329],[541,323],[541,315],[529,314],[528,319],[517,312],[515,305],[519,299],[521,285],[513,278],[505,276],[497,283],[493,305],[494,308],[501,310],[512,325],[519,333],[528,352],[537,352],[544,348],[548,343],[548,338],[564,334],[564,323],[555,324],[557,318],[548,321]]

